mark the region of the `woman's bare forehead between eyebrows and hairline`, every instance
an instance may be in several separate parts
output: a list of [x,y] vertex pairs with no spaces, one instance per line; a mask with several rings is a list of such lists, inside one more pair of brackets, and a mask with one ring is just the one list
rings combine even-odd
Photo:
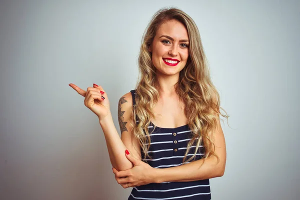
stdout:
[[185,26],[175,19],[165,21],[159,26],[155,36],[159,37],[160,35],[168,35],[174,39],[188,39]]

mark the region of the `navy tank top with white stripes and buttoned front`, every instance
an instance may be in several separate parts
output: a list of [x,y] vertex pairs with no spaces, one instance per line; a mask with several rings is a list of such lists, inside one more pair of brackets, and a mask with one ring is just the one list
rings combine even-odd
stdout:
[[[130,91],[132,101],[135,104],[135,90]],[[149,133],[152,132],[154,126],[150,122],[148,126]],[[142,159],[150,166],[155,168],[167,168],[182,164],[182,159],[186,150],[188,141],[190,140],[190,129],[188,125],[176,128],[161,128],[155,126],[154,131],[150,134],[151,144],[148,154],[151,158]],[[187,158],[193,154],[195,146],[192,146]],[[196,153],[195,160],[203,156],[204,149],[201,146]],[[141,152],[141,157],[144,154]],[[128,200],[135,199],[197,199],[209,200],[210,186],[209,179],[189,181],[189,182],[161,182],[150,183],[133,187]]]

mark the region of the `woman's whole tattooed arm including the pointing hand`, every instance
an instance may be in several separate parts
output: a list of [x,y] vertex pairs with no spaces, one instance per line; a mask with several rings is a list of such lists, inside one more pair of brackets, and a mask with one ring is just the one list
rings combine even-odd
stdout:
[[70,83],[69,86],[84,96],[84,105],[98,116],[111,165],[117,170],[132,168],[132,163],[125,156],[125,150],[128,149],[130,154],[137,159],[141,159],[141,155],[138,141],[132,134],[131,93],[124,94],[118,103],[118,121],[121,129],[120,137],[114,126],[109,108],[109,100],[103,88],[93,84],[93,87],[87,87],[86,91],[84,91],[73,83]]

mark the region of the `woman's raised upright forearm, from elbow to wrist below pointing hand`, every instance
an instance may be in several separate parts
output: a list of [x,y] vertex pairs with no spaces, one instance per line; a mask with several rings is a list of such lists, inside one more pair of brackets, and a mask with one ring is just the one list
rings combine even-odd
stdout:
[[125,156],[126,146],[114,126],[111,113],[99,120],[99,123],[104,133],[111,165],[117,170],[132,168],[132,163]]

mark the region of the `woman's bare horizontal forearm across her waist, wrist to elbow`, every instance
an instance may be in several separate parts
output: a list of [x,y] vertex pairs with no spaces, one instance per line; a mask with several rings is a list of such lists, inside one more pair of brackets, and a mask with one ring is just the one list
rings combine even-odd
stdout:
[[[157,168],[155,169],[154,182],[186,182],[219,177],[223,175],[225,168],[224,160],[220,158],[220,162],[216,164],[216,157],[212,156],[207,158],[204,163],[203,161],[204,159],[202,158],[187,164],[182,164],[180,166]],[[202,166],[200,167],[201,164]]]

